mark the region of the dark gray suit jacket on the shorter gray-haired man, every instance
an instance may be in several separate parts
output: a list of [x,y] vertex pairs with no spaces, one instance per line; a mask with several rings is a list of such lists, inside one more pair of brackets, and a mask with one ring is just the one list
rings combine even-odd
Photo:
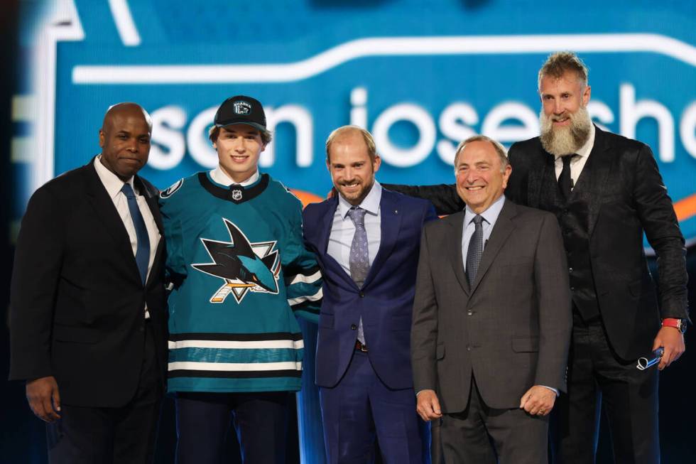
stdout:
[[462,262],[464,212],[425,225],[413,304],[415,391],[466,409],[472,374],[484,402],[516,408],[533,385],[565,390],[572,325],[560,229],[549,212],[505,200],[473,288]]

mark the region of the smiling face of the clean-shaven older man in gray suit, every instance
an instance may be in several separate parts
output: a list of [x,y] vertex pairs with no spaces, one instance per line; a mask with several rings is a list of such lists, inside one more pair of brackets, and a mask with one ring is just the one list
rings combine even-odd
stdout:
[[491,142],[472,141],[455,160],[457,193],[473,212],[481,214],[503,195],[511,172],[509,164],[502,166]]

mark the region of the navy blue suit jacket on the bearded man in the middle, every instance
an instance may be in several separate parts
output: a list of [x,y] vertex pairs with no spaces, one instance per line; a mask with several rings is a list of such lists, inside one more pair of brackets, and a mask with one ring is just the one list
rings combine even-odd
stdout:
[[381,242],[362,288],[327,254],[337,196],[305,207],[305,244],[317,255],[324,298],[317,341],[317,385],[335,387],[348,368],[362,317],[368,356],[392,389],[413,387],[410,325],[423,224],[435,219],[430,202],[383,189]]

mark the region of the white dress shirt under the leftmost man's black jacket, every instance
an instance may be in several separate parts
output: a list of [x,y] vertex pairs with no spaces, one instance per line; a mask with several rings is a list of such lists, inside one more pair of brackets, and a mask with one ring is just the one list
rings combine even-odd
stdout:
[[[126,195],[124,195],[124,193],[121,192],[121,188],[123,188],[124,186],[124,181],[119,179],[119,176],[116,176],[116,174],[112,173],[112,171],[109,171],[109,169],[107,169],[107,167],[102,164],[102,161],[100,161],[101,158],[102,155],[99,155],[97,156],[97,158],[94,159],[94,168],[97,170],[97,176],[99,176],[99,180],[102,181],[104,188],[107,190],[109,198],[111,198],[112,202],[114,202],[114,206],[116,207],[116,211],[119,213],[119,216],[121,217],[121,221],[123,221],[124,223],[124,227],[126,227],[126,232],[128,232],[128,238],[131,240],[131,249],[133,250],[133,256],[135,256],[136,252],[138,251],[138,237],[136,234],[136,227],[133,224],[133,220],[131,219],[131,210],[129,210],[128,208],[128,198],[126,198]],[[145,227],[148,231],[148,238],[150,239],[150,259],[148,259],[149,276],[150,271],[152,269],[153,261],[155,261],[157,245],[160,242],[161,236],[159,230],[157,229],[157,223],[155,222],[155,218],[153,217],[152,212],[150,211],[150,207],[148,206],[145,197],[138,191],[138,188],[136,188],[136,186],[134,185],[133,178],[131,177],[127,183],[131,185],[131,188],[133,189],[136,195],[138,209],[140,210],[141,215],[143,215]],[[145,308],[145,313],[145,317],[149,318],[150,314],[148,313],[147,308]]]

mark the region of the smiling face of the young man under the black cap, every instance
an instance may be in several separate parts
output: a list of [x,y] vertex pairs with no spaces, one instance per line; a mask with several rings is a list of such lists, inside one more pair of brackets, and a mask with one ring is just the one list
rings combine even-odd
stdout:
[[236,183],[244,182],[259,168],[259,156],[266,149],[261,132],[247,124],[221,127],[212,144],[220,168]]

